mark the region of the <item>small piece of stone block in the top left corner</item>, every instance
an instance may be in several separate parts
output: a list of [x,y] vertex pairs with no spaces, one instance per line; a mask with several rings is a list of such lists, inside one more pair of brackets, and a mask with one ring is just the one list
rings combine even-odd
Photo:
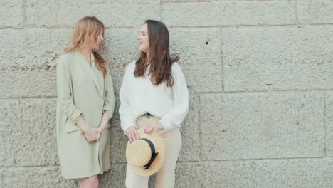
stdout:
[[21,28],[23,26],[22,0],[0,1],[0,28]]

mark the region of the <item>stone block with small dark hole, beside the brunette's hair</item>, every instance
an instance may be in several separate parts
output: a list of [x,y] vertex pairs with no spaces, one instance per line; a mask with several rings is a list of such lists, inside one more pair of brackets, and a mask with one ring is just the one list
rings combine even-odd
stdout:
[[170,28],[171,53],[191,92],[222,90],[221,39],[219,28]]

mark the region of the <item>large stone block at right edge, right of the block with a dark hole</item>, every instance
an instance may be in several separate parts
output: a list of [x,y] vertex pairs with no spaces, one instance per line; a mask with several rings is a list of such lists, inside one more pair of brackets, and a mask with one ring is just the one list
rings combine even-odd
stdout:
[[331,31],[330,26],[223,29],[224,90],[332,89]]

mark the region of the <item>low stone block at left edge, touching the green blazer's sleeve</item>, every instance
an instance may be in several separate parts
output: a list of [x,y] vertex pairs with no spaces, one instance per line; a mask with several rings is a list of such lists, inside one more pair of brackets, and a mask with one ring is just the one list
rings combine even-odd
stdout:
[[0,98],[57,95],[56,71],[0,71]]

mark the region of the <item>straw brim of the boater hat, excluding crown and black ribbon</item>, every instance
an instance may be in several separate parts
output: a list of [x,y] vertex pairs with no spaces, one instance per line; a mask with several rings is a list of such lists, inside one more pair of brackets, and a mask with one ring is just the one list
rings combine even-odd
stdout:
[[[149,169],[144,169],[144,167],[136,167],[136,166],[130,164],[130,162],[128,162],[128,160],[127,160],[127,162],[129,164],[129,166],[132,167],[133,171],[135,173],[139,174],[140,176],[146,176],[146,177],[151,176],[152,174],[155,174],[159,170],[159,168],[162,167],[162,164],[164,162],[164,154],[165,154],[164,142],[163,142],[162,138],[156,132],[146,134],[146,133],[144,133],[144,128],[140,128],[139,130],[137,130],[137,132],[139,133],[141,138],[147,138],[147,139],[151,140],[154,143],[155,152],[158,152],[159,154],[157,155],[155,160],[152,162]],[[127,143],[127,146],[128,145],[129,145],[129,143]],[[126,155],[127,155],[127,153],[126,153]]]

